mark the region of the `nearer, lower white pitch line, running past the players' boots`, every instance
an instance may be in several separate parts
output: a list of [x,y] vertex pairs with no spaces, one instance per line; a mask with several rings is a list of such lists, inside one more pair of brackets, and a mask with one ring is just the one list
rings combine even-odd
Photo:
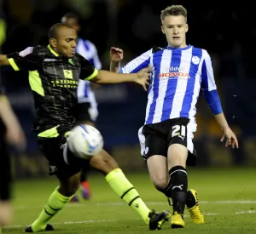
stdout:
[[[205,216],[213,216],[213,215],[239,215],[239,214],[256,214],[256,210],[245,210],[245,211],[237,211],[235,213],[207,213]],[[189,215],[184,215],[188,217]],[[141,220],[141,219],[129,219],[129,220]],[[84,221],[65,221],[63,223],[51,223],[51,225],[73,225],[73,224],[91,224],[91,223],[105,223],[105,222],[116,222],[116,221],[125,221],[125,220],[84,220]],[[9,225],[6,228],[19,228],[25,227],[25,225]]]

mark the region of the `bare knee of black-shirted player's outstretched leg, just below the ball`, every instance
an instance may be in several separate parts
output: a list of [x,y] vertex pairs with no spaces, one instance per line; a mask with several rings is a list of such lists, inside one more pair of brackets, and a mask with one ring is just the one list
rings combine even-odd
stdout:
[[103,174],[108,174],[113,169],[119,168],[119,164],[104,150],[91,157],[90,166],[101,171]]

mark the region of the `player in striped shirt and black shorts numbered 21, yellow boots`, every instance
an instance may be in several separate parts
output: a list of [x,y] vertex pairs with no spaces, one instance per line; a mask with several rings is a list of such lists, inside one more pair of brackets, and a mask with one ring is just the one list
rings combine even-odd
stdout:
[[192,139],[200,91],[224,132],[221,141],[227,138],[226,146],[233,148],[238,148],[238,141],[224,117],[210,55],[186,43],[187,10],[172,5],[161,12],[160,20],[166,48],[149,49],[122,68],[123,51],[112,48],[110,69],[133,73],[151,67],[145,123],[138,136],[155,188],[172,198],[172,228],[179,228],[184,227],[185,206],[195,223],[204,223],[196,191],[188,191],[186,170],[186,165],[195,165],[197,157]]

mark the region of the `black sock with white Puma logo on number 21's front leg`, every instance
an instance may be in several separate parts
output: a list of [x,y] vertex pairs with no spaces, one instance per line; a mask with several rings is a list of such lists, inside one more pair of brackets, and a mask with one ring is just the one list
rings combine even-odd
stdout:
[[173,212],[183,214],[188,190],[187,170],[182,166],[176,166],[169,171],[169,174],[172,182]]

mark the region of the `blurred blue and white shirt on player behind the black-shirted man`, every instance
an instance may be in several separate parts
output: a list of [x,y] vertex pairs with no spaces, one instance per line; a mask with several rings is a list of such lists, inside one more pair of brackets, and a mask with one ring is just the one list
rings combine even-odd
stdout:
[[[89,60],[96,69],[102,69],[102,63],[99,60],[96,46],[90,41],[79,38],[76,52],[81,54],[86,60]],[[90,102],[91,106],[96,105],[96,98],[90,87],[90,81],[79,80],[78,98],[79,103]]]

